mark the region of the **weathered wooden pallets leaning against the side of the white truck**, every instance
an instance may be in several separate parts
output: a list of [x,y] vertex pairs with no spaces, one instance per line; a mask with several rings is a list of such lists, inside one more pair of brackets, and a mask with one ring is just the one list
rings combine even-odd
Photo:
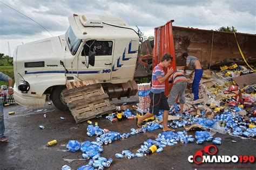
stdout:
[[68,89],[62,91],[62,97],[77,123],[116,110],[97,80],[67,82],[66,86]]

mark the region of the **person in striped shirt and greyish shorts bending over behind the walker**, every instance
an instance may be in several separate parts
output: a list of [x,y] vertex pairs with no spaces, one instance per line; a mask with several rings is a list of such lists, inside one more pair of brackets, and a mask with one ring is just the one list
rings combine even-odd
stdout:
[[187,88],[187,79],[181,72],[174,72],[169,79],[169,83],[173,83],[171,93],[168,98],[169,105],[173,105],[176,99],[180,102],[180,115],[182,115],[185,100],[185,90]]

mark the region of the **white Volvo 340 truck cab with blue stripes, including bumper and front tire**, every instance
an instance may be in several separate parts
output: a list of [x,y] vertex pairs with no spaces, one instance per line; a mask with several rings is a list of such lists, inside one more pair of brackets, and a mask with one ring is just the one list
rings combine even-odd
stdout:
[[69,24],[61,36],[15,48],[15,101],[43,107],[51,94],[53,104],[67,110],[60,95],[66,82],[84,80],[99,80],[110,98],[136,95],[137,32],[116,16],[74,14]]

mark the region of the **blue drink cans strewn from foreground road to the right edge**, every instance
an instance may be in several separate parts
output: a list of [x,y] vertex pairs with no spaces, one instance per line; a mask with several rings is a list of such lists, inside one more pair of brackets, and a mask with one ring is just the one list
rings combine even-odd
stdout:
[[[170,114],[175,116],[181,116],[183,119],[181,121],[174,120],[170,121],[168,126],[171,128],[180,128],[185,125],[191,125],[193,123],[198,123],[204,126],[205,129],[211,129],[214,127],[215,123],[221,122],[221,128],[224,128],[228,133],[235,136],[243,137],[254,137],[256,134],[256,128],[253,124],[248,124],[244,122],[244,119],[237,114],[241,111],[240,107],[231,107],[232,111],[227,111],[218,114],[213,120],[202,118],[201,116],[192,116],[184,111],[183,115],[179,114],[179,107],[174,105],[170,109]],[[126,110],[125,112],[130,112]],[[204,111],[201,111],[203,115]],[[130,114],[130,113],[129,113]],[[120,134],[118,132],[109,131],[107,129],[100,129],[98,123],[95,126],[92,125],[91,121],[88,121],[87,126],[87,136],[97,136],[96,141],[85,141],[84,143],[79,143],[78,141],[71,140],[67,145],[67,148],[71,152],[76,152],[78,150],[82,151],[82,157],[84,159],[90,159],[87,165],[80,167],[80,169],[103,169],[104,167],[110,167],[112,159],[106,159],[101,157],[100,154],[103,152],[103,145],[113,143],[115,140],[129,138],[130,136],[136,135],[138,133],[145,133],[146,131],[153,131],[157,129],[163,129],[163,125],[158,124],[158,120],[163,118],[163,111],[159,112],[158,116],[155,116],[155,121],[147,122],[142,126],[142,129],[131,129],[130,132]],[[255,122],[255,118],[251,117],[251,123]],[[119,159],[132,159],[134,157],[144,157],[144,155],[149,155],[154,152],[161,152],[166,146],[173,146],[178,143],[187,144],[196,141],[197,144],[202,144],[204,141],[212,141],[213,144],[221,144],[221,138],[213,138],[208,131],[196,131],[195,138],[192,135],[188,135],[186,131],[175,132],[163,132],[159,133],[158,137],[154,140],[147,139],[144,141],[143,145],[138,148],[136,153],[132,153],[129,150],[124,150],[122,153],[116,153],[116,158]],[[79,168],[78,168],[79,169]]]

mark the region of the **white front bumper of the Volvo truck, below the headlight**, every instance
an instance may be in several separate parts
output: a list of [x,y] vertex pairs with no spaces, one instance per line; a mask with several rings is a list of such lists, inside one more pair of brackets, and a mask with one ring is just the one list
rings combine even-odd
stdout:
[[45,107],[45,98],[46,95],[42,95],[42,97],[32,96],[23,94],[18,88],[14,88],[15,102],[26,107]]

